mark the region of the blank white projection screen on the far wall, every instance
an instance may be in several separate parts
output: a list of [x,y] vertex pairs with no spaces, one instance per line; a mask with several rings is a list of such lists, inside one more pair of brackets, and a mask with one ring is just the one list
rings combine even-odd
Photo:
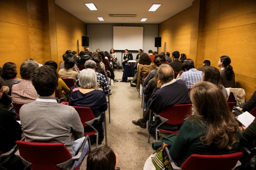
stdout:
[[113,49],[143,49],[143,27],[113,26]]

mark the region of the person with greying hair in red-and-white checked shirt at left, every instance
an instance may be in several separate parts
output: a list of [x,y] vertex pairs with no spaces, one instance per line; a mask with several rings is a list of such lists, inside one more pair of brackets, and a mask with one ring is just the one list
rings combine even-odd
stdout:
[[20,66],[20,76],[22,80],[19,84],[12,86],[12,102],[18,104],[28,104],[34,102],[38,96],[31,78],[34,71],[39,67],[34,60],[24,61]]

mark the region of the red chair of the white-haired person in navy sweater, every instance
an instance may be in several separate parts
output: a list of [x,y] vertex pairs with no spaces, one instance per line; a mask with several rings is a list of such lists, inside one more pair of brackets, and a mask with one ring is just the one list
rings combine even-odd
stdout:
[[[99,121],[100,120],[100,116],[95,117],[94,114],[92,113],[92,109],[90,107],[80,107],[80,106],[72,106],[76,109],[76,111],[78,112],[78,115],[81,119],[82,125],[84,127],[86,126],[90,126],[92,129],[94,129],[93,131],[90,132],[84,132],[84,136],[89,135],[96,135],[96,148],[98,147],[98,137],[99,137],[99,133],[97,131],[97,129],[95,129],[92,126],[92,123],[94,123],[94,121]],[[106,145],[108,145],[108,140],[107,140],[107,126],[106,126],[106,113],[104,112],[104,129],[105,129],[105,139],[106,139]]]

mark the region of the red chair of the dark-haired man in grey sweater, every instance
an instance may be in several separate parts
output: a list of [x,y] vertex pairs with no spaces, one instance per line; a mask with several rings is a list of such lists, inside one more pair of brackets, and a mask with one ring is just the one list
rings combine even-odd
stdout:
[[[26,166],[24,169],[30,167],[33,170],[66,170],[72,161],[80,158],[86,141],[88,141],[89,152],[91,151],[90,140],[88,139],[89,136],[86,136],[76,156],[72,156],[62,143],[16,141],[18,150],[15,152],[15,156],[22,160]],[[79,165],[75,170],[78,168]]]

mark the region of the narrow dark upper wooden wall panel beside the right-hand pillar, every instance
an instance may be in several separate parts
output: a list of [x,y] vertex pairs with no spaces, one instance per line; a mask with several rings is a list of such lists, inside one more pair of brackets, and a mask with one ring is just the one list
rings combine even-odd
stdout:
[[220,0],[204,0],[204,31],[218,29],[220,15]]

